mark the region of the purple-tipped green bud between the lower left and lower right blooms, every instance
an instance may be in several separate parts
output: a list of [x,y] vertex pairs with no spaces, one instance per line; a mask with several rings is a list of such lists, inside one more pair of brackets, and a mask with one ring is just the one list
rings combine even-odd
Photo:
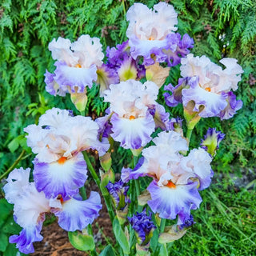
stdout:
[[117,210],[124,210],[127,203],[130,202],[130,198],[127,196],[129,186],[124,186],[124,183],[120,180],[119,182],[115,183],[109,182],[106,185],[106,189],[110,193],[115,208]]

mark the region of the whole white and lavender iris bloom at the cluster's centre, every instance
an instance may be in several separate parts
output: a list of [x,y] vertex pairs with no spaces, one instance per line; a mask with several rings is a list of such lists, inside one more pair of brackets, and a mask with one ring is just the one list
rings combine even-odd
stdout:
[[[164,108],[155,100],[158,97],[158,86],[147,81],[144,84],[127,80],[110,85],[105,91],[105,102],[110,102],[110,123],[115,141],[121,142],[125,149],[138,150],[150,142],[150,135],[159,122],[167,122],[169,117]],[[166,116],[167,115],[167,116]],[[162,118],[162,120],[161,120]]]

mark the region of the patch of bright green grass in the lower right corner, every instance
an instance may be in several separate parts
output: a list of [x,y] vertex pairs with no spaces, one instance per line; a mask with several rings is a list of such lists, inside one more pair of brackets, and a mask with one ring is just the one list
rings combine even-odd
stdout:
[[255,255],[255,190],[238,190],[228,177],[219,178],[202,191],[202,205],[192,213],[196,224],[174,242],[172,255]]

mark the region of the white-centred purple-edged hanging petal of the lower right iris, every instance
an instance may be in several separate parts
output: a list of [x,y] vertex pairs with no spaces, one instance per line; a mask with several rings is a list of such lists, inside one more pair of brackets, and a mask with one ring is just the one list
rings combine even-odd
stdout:
[[159,213],[160,218],[174,219],[181,212],[190,215],[190,209],[197,209],[202,202],[197,182],[170,188],[160,187],[153,181],[147,190],[152,198],[148,205],[154,213]]

